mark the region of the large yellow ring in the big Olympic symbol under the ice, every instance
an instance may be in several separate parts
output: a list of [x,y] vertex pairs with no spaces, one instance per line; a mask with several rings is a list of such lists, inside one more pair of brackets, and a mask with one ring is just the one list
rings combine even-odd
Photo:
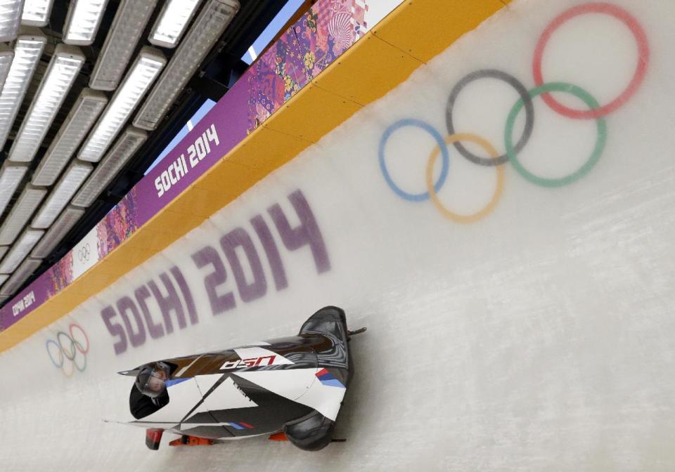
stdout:
[[[499,152],[497,152],[494,147],[490,143],[487,142],[487,140],[484,140],[480,136],[476,136],[475,134],[469,134],[469,133],[457,133],[453,134],[452,136],[448,136],[445,138],[445,142],[448,144],[454,144],[458,143],[459,141],[470,141],[472,143],[476,143],[477,145],[480,145],[484,150],[487,151],[489,155],[491,155],[492,159],[499,159]],[[427,188],[429,189],[429,195],[431,195],[431,201],[434,202],[436,205],[436,208],[439,209],[439,211],[444,214],[446,217],[450,218],[453,221],[457,221],[458,223],[473,223],[473,221],[480,220],[483,216],[489,214],[494,207],[496,206],[497,202],[499,201],[499,197],[501,197],[501,192],[504,189],[504,168],[503,166],[495,167],[495,170],[497,171],[497,184],[494,189],[494,194],[492,195],[492,199],[490,202],[485,206],[484,209],[478,211],[477,213],[473,215],[459,215],[456,213],[453,213],[449,209],[446,209],[446,207],[441,203],[440,199],[438,198],[437,193],[435,192],[433,185],[432,185],[432,174],[434,171],[434,163],[436,162],[436,156],[438,155],[439,152],[439,147],[436,147],[431,154],[429,155],[429,160],[427,162]]]

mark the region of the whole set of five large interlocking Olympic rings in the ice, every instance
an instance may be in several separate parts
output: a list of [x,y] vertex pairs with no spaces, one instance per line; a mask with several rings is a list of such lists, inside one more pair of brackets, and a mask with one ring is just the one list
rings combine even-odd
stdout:
[[[606,105],[600,105],[596,98],[593,98],[591,94],[581,87],[574,84],[567,84],[564,82],[546,82],[544,83],[543,74],[541,72],[541,60],[544,55],[544,49],[548,40],[551,39],[551,35],[555,32],[556,29],[563,25],[564,22],[571,20],[579,15],[584,15],[586,13],[603,13],[610,15],[613,18],[617,18],[626,25],[633,34],[636,43],[638,45],[638,65],[634,76],[631,78],[630,84],[626,89],[619,94],[617,98],[612,100]],[[378,158],[380,161],[380,170],[383,173],[387,185],[397,194],[399,197],[409,200],[411,202],[423,202],[430,199],[436,208],[446,217],[453,221],[459,223],[470,223],[477,221],[484,216],[487,216],[499,201],[499,197],[503,191],[504,183],[504,170],[503,165],[506,162],[510,162],[513,165],[513,168],[518,171],[518,173],[525,178],[530,183],[539,185],[541,187],[562,187],[564,185],[570,185],[574,181],[579,180],[579,178],[585,176],[593,166],[598,163],[600,156],[605,149],[605,143],[607,141],[607,122],[605,121],[605,115],[614,112],[621,105],[624,105],[631,96],[634,95],[638,86],[642,83],[645,73],[647,70],[647,65],[649,62],[649,44],[647,36],[644,32],[643,27],[638,23],[638,21],[625,11],[623,8],[618,6],[606,4],[606,3],[589,3],[583,4],[570,8],[563,13],[560,13],[555,17],[544,29],[544,32],[539,37],[537,41],[536,48],[534,51],[534,60],[532,61],[532,72],[534,74],[534,84],[536,85],[533,89],[527,89],[527,87],[522,84],[518,79],[513,77],[513,75],[503,72],[496,69],[483,69],[471,72],[470,74],[465,75],[451,90],[448,100],[446,102],[445,110],[445,121],[446,128],[449,136],[443,138],[441,133],[435,129],[434,126],[427,122],[423,122],[420,119],[401,119],[398,122],[390,125],[383,133],[382,138],[380,138],[380,145],[378,150]],[[453,111],[455,103],[459,93],[470,84],[478,79],[498,79],[506,82],[515,89],[520,98],[511,108],[508,117],[506,119],[506,126],[504,129],[504,145],[506,147],[506,152],[503,155],[499,155],[494,147],[473,133],[458,133],[455,129],[453,122]],[[572,96],[579,98],[584,104],[588,107],[588,110],[572,110],[571,108],[565,107],[551,97],[550,92],[562,92],[570,93]],[[553,111],[561,114],[565,117],[572,119],[595,119],[596,128],[597,128],[597,138],[595,146],[591,151],[591,155],[586,159],[586,162],[579,167],[576,171],[573,171],[567,176],[560,178],[545,178],[542,176],[537,176],[531,171],[525,169],[525,166],[522,165],[520,159],[518,159],[518,153],[527,145],[529,139],[532,137],[532,130],[534,128],[534,105],[532,102],[533,98],[539,97],[544,100],[546,105],[550,107]],[[518,138],[518,141],[514,143],[515,137],[513,136],[515,121],[518,118],[518,114],[525,109],[525,126],[523,127],[522,134]],[[436,146],[430,153],[425,173],[425,181],[427,191],[422,193],[410,193],[402,190],[397,183],[394,182],[390,171],[387,169],[387,162],[385,159],[385,147],[387,142],[390,140],[392,134],[406,126],[415,126],[424,131],[427,131],[436,142]],[[482,147],[489,157],[480,157],[473,152],[467,150],[463,145],[463,141],[468,141],[475,143]],[[474,164],[481,166],[494,166],[496,169],[496,188],[490,202],[484,206],[484,208],[473,215],[461,215],[456,214],[442,204],[438,197],[438,192],[440,188],[444,185],[448,173],[449,173],[449,150],[448,146],[452,144],[454,148],[466,159]],[[434,165],[438,155],[442,157],[442,166],[439,176],[436,182],[433,182],[433,170]]]

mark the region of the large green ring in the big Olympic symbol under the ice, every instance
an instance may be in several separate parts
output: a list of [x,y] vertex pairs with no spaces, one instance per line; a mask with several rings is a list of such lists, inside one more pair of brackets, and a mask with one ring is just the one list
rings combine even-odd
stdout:
[[[563,82],[552,82],[551,84],[544,84],[542,86],[536,87],[529,91],[529,95],[532,98],[541,95],[543,96],[546,92],[568,92],[577,98],[584,100],[586,105],[589,105],[591,110],[597,110],[598,102],[595,98],[591,96],[590,93],[586,92],[581,87],[577,87],[572,84],[565,84]],[[596,118],[596,123],[598,125],[598,139],[596,140],[596,146],[593,147],[593,152],[591,152],[591,157],[586,161],[586,164],[581,166],[579,170],[574,173],[571,173],[569,176],[561,178],[544,178],[535,176],[534,173],[527,171],[525,167],[522,166],[516,155],[515,147],[513,147],[513,124],[515,123],[515,118],[518,116],[518,113],[522,110],[522,100],[513,105],[508,118],[506,119],[506,131],[504,131],[504,141],[506,143],[506,154],[508,155],[513,168],[520,173],[521,176],[525,177],[528,181],[536,183],[536,185],[541,185],[542,187],[562,187],[563,185],[569,185],[570,183],[576,181],[577,179],[589,173],[593,166],[598,163],[600,155],[605,149],[605,141],[607,140],[607,122],[602,117]]]

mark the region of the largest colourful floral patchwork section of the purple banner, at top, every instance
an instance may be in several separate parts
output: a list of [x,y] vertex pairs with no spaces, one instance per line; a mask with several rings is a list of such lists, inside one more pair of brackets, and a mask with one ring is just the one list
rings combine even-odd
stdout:
[[365,0],[319,0],[248,71],[248,132],[366,32]]

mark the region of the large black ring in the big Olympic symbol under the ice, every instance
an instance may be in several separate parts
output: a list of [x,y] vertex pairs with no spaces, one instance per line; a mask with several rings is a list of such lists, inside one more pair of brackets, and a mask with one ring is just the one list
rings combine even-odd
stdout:
[[[505,81],[507,84],[512,86],[515,91],[518,92],[518,95],[520,95],[520,100],[522,103],[525,103],[525,129],[522,131],[522,136],[520,136],[518,144],[515,145],[515,152],[520,152],[520,150],[527,144],[529,136],[532,135],[532,127],[534,126],[534,105],[532,105],[532,98],[529,96],[529,93],[527,93],[525,86],[518,79],[513,77],[513,75],[509,75],[506,72],[502,72],[501,70],[477,70],[476,72],[471,72],[465,76],[463,79],[461,79],[461,81],[458,81],[457,85],[454,86],[450,92],[445,111],[445,120],[446,126],[448,127],[448,134],[452,136],[455,133],[455,127],[454,124],[452,124],[452,109],[455,106],[455,100],[457,100],[459,93],[470,82],[475,81],[476,79],[484,79],[487,77]],[[506,153],[496,157],[496,159],[485,158],[473,155],[463,145],[461,145],[459,140],[456,140],[454,145],[455,149],[458,150],[461,155],[469,159],[474,164],[479,164],[481,166],[499,166],[499,164],[504,164],[508,161],[508,155],[506,155]]]

